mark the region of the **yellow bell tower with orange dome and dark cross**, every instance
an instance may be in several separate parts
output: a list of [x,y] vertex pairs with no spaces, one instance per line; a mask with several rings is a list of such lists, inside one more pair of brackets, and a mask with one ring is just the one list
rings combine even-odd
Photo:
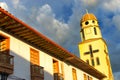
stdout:
[[81,40],[79,43],[80,58],[93,66],[107,77],[104,80],[114,80],[107,49],[102,38],[98,20],[94,14],[86,13],[81,19]]

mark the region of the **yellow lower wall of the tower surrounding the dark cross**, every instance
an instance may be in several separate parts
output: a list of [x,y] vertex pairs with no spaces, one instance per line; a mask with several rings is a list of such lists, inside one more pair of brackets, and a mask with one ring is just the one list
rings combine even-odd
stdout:
[[[98,39],[85,40],[79,43],[81,59],[84,60],[85,62],[86,60],[89,60],[89,64],[92,65],[90,54],[86,54],[86,55],[84,54],[85,52],[90,51],[89,45],[92,46],[93,50],[97,50],[97,49],[99,50],[99,52],[93,53],[93,59],[95,62],[94,67],[100,72],[104,73],[106,76],[108,76],[108,79],[106,78],[104,80],[113,80],[108,50],[104,40],[102,38],[98,38]],[[99,58],[100,65],[97,65],[97,61],[96,61],[97,57]],[[108,62],[107,62],[107,59],[108,59]]]

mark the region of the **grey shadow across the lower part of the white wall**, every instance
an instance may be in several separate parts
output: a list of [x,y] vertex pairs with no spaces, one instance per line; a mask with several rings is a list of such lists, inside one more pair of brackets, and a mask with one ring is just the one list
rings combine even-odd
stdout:
[[[30,61],[28,61],[28,60],[24,59],[23,57],[17,55],[13,51],[10,51],[10,55],[14,56],[14,71],[13,71],[13,74],[8,76],[7,80],[31,80]],[[47,79],[53,80],[53,75],[48,73],[44,69],[43,69],[43,74],[44,74],[43,76],[47,76],[47,78],[44,78],[44,80],[47,80]]]

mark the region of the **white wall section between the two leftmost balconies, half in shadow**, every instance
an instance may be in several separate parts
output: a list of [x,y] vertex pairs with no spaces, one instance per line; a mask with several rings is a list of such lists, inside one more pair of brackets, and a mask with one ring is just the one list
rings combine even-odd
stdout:
[[30,50],[24,42],[4,33],[10,38],[10,54],[14,56],[14,72],[10,76],[30,80]]

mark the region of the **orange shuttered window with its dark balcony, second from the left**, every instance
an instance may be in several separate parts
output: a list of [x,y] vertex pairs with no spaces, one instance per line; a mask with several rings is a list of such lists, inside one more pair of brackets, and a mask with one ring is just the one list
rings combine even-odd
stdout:
[[[44,68],[40,66],[39,51],[30,48],[31,80],[44,80]],[[39,75],[39,76],[38,76]]]

